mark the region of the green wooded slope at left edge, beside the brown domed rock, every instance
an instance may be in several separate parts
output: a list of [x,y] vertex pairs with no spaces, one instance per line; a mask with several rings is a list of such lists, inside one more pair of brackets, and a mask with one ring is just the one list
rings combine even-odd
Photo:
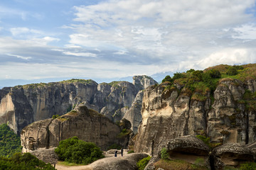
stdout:
[[21,149],[21,138],[8,125],[0,125],[0,156],[11,157]]

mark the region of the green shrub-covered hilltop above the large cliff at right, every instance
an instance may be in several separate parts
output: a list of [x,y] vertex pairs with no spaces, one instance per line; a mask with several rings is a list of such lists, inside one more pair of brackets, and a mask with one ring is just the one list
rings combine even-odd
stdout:
[[206,100],[210,91],[213,94],[220,79],[238,79],[246,81],[256,79],[256,64],[226,65],[220,64],[205,70],[190,69],[186,72],[176,72],[173,77],[169,75],[162,80],[162,85],[167,89],[183,89],[192,99]]

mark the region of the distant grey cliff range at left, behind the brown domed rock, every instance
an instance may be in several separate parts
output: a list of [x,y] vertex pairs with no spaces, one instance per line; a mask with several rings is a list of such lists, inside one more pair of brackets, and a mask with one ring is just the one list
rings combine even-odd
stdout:
[[97,84],[92,80],[71,79],[1,89],[0,124],[8,123],[19,134],[26,125],[63,115],[82,102],[87,108],[119,121],[132,106],[139,89],[156,83],[146,76],[133,79],[134,84],[127,81]]

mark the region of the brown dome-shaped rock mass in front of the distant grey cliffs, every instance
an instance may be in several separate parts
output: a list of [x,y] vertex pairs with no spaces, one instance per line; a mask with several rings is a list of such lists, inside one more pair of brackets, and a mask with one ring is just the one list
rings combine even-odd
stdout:
[[21,145],[23,152],[26,152],[57,147],[61,140],[77,136],[80,140],[94,142],[105,150],[112,144],[121,144],[124,140],[128,142],[129,139],[118,137],[120,132],[121,128],[104,115],[80,104],[75,110],[58,118],[40,120],[23,128]]

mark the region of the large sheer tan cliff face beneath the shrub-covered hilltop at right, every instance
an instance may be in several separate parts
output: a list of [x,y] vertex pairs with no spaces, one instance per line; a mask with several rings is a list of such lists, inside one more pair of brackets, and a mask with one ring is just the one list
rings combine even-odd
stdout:
[[163,140],[202,134],[215,143],[250,143],[256,140],[255,90],[253,79],[220,79],[214,94],[206,91],[203,98],[168,83],[151,86],[144,91],[134,149],[151,153]]

